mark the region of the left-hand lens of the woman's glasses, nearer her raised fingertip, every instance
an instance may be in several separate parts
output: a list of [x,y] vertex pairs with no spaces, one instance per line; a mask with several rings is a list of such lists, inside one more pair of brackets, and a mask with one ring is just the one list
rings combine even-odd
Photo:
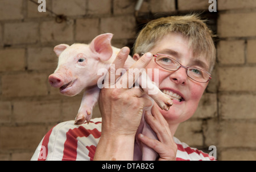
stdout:
[[163,67],[166,68],[167,70],[175,71],[177,68],[179,68],[179,63],[174,61],[171,57],[168,57],[167,55],[162,55],[162,54],[157,54],[156,58],[156,63]]

